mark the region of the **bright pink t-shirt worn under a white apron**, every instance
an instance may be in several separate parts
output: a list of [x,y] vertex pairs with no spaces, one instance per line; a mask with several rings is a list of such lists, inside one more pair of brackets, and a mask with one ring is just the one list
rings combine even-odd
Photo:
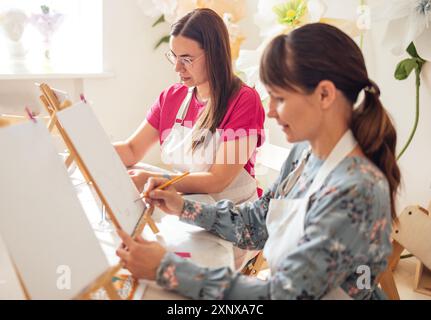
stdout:
[[[173,127],[176,115],[181,103],[187,95],[188,87],[182,84],[174,84],[165,89],[156,100],[147,114],[147,121],[159,131],[160,144],[163,144],[162,134],[165,130]],[[192,127],[205,108],[193,95],[189,109],[184,118],[184,124]],[[223,121],[218,127],[223,141],[238,139],[242,136],[257,135],[257,147],[264,142],[263,123],[265,111],[256,90],[243,85],[241,89],[230,99],[228,109]],[[227,130],[230,129],[230,130]],[[250,175],[254,176],[254,162],[256,151],[249,159],[244,168]]]

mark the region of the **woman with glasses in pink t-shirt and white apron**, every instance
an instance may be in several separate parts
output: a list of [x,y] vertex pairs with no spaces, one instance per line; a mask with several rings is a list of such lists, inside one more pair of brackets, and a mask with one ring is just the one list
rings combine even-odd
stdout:
[[[181,83],[165,89],[146,119],[115,148],[127,167],[136,165],[160,142],[169,178],[190,171],[179,192],[208,194],[235,203],[257,197],[256,148],[264,140],[264,110],[258,93],[234,75],[229,34],[210,9],[196,9],[172,25],[166,54]],[[149,168],[149,167],[147,167]],[[142,190],[151,169],[132,170]]]

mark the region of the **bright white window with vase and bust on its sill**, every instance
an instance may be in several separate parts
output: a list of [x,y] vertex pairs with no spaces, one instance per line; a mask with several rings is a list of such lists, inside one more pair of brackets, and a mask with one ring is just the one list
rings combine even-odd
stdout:
[[[0,74],[102,72],[102,2],[1,0]],[[13,15],[12,9],[20,10],[20,13]],[[59,15],[54,16],[56,13]],[[35,15],[40,18],[39,27],[44,26],[45,31],[48,23],[53,25],[61,17],[62,22],[50,37],[49,46],[44,41],[46,37],[35,26]],[[26,19],[22,19],[23,16]],[[23,25],[25,29],[20,40],[12,41],[11,38],[19,38]]]

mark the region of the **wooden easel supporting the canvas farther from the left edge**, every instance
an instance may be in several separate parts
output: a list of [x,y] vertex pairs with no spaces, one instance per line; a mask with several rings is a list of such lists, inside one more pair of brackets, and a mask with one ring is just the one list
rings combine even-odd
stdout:
[[[69,167],[73,162],[76,163],[77,167],[81,171],[82,175],[84,176],[85,180],[89,185],[92,185],[94,190],[96,191],[99,199],[101,200],[102,204],[105,206],[106,211],[109,215],[109,218],[111,219],[112,223],[117,229],[121,229],[120,224],[118,223],[118,220],[116,219],[114,213],[112,212],[111,207],[109,206],[108,202],[106,201],[104,195],[100,191],[100,188],[95,183],[94,179],[91,176],[91,173],[87,169],[85,163],[82,161],[82,159],[79,157],[78,152],[76,151],[73,143],[69,139],[67,133],[61,126],[60,122],[58,121],[56,117],[56,113],[58,111],[61,111],[67,107],[70,107],[72,103],[69,100],[64,100],[62,102],[59,101],[54,91],[45,83],[40,84],[40,90],[42,91],[42,95],[40,96],[40,100],[42,101],[43,105],[45,106],[49,116],[50,121],[48,123],[48,130],[52,130],[54,127],[57,128],[58,132],[60,133],[61,137],[63,138],[63,141],[66,145],[66,147],[69,150],[69,156],[65,161],[66,167]],[[148,207],[145,212],[143,213],[139,223],[136,225],[135,231],[132,234],[132,237],[135,237],[137,235],[140,235],[145,228],[145,225],[148,224],[151,228],[151,230],[154,233],[158,233],[159,230],[154,223],[154,220],[152,219],[152,214],[154,211],[154,207],[150,206]]]

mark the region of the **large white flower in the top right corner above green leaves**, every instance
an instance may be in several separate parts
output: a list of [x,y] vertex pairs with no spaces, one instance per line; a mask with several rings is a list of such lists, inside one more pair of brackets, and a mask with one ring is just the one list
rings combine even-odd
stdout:
[[384,0],[372,7],[372,21],[388,21],[383,44],[401,55],[411,42],[431,61],[431,0]]

